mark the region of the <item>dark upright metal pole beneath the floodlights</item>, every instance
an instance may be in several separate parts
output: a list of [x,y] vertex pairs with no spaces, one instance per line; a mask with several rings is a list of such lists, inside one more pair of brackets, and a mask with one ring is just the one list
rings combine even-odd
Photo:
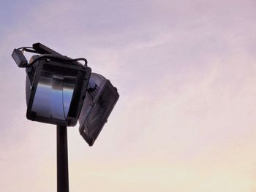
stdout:
[[57,192],[69,192],[67,126],[57,126]]

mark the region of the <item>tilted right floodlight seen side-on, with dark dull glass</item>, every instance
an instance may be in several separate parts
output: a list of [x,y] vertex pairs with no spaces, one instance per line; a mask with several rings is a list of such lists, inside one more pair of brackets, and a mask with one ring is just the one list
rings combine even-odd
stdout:
[[86,99],[79,118],[79,131],[83,139],[92,146],[108,120],[116,101],[117,89],[110,80],[100,74],[91,73]]

